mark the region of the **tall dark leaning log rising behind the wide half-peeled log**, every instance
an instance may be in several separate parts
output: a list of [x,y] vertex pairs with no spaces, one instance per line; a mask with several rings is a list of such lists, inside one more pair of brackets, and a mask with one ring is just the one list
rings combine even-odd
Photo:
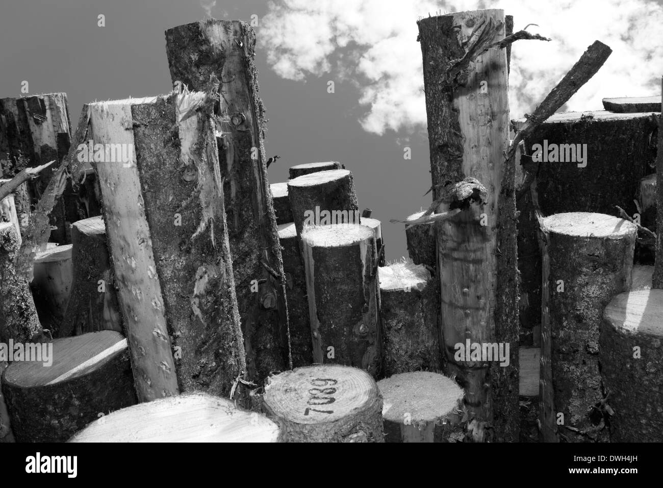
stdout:
[[[220,82],[219,160],[239,315],[253,378],[289,362],[285,277],[267,181],[265,108],[258,94],[255,33],[241,21],[209,19],[166,31],[173,82],[208,90]],[[259,290],[255,292],[255,283]]]

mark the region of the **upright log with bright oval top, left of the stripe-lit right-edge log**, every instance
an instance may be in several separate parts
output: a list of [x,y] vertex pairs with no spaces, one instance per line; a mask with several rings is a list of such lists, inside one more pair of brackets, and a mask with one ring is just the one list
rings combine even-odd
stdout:
[[[550,323],[555,412],[569,442],[601,441],[599,328],[605,305],[631,286],[636,226],[587,212],[543,218],[550,242]],[[561,280],[561,281],[560,281]]]

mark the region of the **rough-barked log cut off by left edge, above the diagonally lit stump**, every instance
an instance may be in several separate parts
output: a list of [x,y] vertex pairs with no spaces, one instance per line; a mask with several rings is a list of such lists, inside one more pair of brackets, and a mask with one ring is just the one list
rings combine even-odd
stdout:
[[16,270],[19,236],[11,222],[0,222],[0,342],[28,341],[41,332],[30,285]]

